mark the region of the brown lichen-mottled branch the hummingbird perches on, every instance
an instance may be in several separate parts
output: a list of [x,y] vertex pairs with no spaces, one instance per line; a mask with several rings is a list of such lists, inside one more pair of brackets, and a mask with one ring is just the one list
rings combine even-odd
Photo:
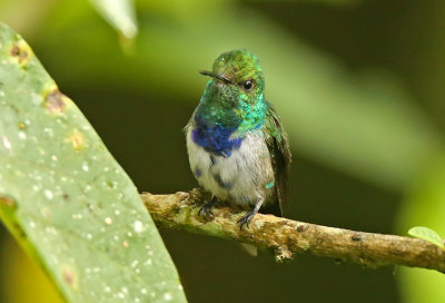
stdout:
[[405,265],[445,273],[445,252],[424,240],[354,232],[263,214],[257,214],[249,227],[240,231],[237,221],[244,212],[216,207],[212,221],[200,217],[196,204],[202,203],[205,194],[199,189],[172,195],[144,193],[141,197],[159,226],[273,250],[277,261],[307,252],[368,267]]

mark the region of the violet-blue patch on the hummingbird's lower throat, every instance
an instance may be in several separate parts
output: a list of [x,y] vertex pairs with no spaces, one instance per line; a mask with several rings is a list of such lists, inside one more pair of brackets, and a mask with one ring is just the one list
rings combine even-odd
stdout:
[[225,127],[206,121],[195,115],[196,128],[191,131],[195,144],[217,156],[230,157],[231,150],[239,149],[243,138],[230,139],[237,127]]

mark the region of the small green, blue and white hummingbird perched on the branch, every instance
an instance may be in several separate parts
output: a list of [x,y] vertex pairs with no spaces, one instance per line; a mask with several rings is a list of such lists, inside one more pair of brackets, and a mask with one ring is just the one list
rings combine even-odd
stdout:
[[246,209],[240,229],[259,211],[283,216],[291,154],[258,57],[231,50],[199,72],[210,79],[185,128],[191,172],[211,193],[199,215],[210,219],[217,202]]

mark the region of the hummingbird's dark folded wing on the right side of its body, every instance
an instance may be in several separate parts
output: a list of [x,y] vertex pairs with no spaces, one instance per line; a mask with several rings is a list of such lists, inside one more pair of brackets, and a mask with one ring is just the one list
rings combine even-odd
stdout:
[[287,134],[283,128],[275,108],[268,104],[265,123],[266,144],[270,153],[271,165],[275,173],[276,196],[279,203],[280,215],[284,216],[287,211],[287,180],[291,154]]

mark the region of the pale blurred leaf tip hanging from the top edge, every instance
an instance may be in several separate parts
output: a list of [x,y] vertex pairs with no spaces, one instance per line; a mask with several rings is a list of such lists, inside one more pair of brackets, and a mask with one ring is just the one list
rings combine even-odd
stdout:
[[91,4],[113,28],[127,39],[138,33],[135,3],[132,0],[90,0]]

